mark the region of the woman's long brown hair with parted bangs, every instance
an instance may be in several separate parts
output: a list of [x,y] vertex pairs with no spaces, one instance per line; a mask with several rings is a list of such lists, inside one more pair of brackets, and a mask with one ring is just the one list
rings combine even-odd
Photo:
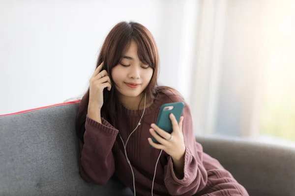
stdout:
[[[170,87],[157,85],[159,55],[156,42],[149,30],[139,23],[120,22],[112,28],[101,47],[97,58],[96,68],[104,62],[102,70],[106,70],[109,73],[111,82],[114,84],[110,73],[112,73],[112,69],[122,60],[122,57],[129,48],[132,40],[137,43],[139,59],[153,69],[150,82],[147,88],[143,91],[143,93],[147,93],[147,98],[154,99],[163,89],[172,89]],[[142,99],[143,97],[141,98],[141,101]],[[83,136],[85,132],[88,104],[89,88],[87,93],[81,99],[76,118],[76,133],[82,142],[84,142]],[[108,91],[106,88],[103,90],[101,117],[106,119],[115,128],[118,128],[117,117],[118,114],[121,113],[120,104],[116,88],[111,88],[111,91]]]

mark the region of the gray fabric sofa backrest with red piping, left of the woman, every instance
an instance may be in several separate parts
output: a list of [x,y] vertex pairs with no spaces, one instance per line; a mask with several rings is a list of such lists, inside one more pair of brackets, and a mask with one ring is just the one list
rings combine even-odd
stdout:
[[115,176],[104,186],[79,174],[79,101],[0,116],[0,196],[130,196]]

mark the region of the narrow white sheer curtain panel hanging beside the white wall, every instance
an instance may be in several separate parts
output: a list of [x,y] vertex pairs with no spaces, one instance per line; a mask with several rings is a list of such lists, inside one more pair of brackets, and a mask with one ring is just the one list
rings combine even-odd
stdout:
[[214,134],[226,0],[200,0],[191,94],[197,134]]

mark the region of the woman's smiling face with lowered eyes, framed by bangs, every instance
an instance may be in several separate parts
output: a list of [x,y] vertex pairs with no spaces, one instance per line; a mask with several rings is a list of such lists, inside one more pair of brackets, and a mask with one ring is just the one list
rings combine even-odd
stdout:
[[[128,51],[123,59],[112,69],[112,77],[116,83],[115,88],[120,96],[138,97],[148,86],[153,69],[140,61],[137,54],[137,43],[131,41]],[[132,86],[128,83],[138,84]]]

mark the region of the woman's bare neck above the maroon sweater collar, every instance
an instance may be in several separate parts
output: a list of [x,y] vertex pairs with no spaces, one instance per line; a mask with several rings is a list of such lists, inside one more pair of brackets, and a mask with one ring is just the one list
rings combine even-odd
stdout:
[[[140,102],[141,98],[142,98],[142,101]],[[126,96],[120,95],[119,99],[120,99],[120,102],[124,105],[124,107],[129,110],[137,110],[137,109],[142,110],[145,107],[145,94],[143,94],[143,93],[137,97],[126,97]],[[150,98],[148,98],[148,96],[147,96],[146,108],[149,105],[151,105],[151,103],[152,102],[151,102]],[[138,105],[139,105],[139,108],[138,108]]]

